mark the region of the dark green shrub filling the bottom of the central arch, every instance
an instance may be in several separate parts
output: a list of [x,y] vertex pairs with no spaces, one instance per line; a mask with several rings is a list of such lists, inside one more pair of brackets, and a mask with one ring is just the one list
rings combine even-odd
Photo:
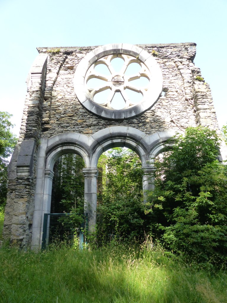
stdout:
[[96,236],[98,243],[110,239],[123,242],[142,241],[149,231],[150,215],[138,196],[117,194],[111,201],[99,204]]

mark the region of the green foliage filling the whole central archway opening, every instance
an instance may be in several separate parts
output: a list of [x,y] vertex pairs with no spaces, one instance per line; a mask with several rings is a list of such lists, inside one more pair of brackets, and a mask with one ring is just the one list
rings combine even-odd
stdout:
[[[130,149],[112,148],[100,157],[98,241],[111,237],[144,237],[148,216],[142,198],[142,170],[138,155]],[[101,189],[100,189],[101,188]]]

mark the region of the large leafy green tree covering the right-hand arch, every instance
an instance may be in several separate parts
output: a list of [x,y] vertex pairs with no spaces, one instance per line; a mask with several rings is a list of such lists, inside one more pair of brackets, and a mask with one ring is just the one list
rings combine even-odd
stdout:
[[155,190],[148,193],[153,235],[199,261],[226,260],[227,166],[217,160],[219,137],[190,127],[175,139],[156,160]]

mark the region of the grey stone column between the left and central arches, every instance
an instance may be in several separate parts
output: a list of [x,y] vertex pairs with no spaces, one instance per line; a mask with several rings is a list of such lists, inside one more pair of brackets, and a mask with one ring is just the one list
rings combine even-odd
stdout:
[[94,230],[97,208],[97,168],[84,168],[84,214],[88,214],[88,231]]

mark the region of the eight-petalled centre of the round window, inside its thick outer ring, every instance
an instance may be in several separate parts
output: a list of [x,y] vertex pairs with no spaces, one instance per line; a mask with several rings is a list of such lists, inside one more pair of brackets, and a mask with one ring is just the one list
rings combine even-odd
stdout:
[[109,55],[88,69],[85,83],[90,98],[97,104],[115,110],[141,102],[150,82],[148,68],[129,55]]

